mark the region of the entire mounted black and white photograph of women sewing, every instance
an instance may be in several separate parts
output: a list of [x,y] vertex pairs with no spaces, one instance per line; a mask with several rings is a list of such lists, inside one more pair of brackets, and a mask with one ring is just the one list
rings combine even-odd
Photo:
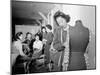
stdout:
[[96,70],[96,6],[11,0],[12,75]]

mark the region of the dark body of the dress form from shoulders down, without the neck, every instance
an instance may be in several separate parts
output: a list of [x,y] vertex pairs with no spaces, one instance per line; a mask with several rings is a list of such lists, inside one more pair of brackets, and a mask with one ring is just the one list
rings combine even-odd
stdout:
[[83,26],[70,27],[69,29],[69,71],[86,70],[84,53],[89,43],[89,30]]

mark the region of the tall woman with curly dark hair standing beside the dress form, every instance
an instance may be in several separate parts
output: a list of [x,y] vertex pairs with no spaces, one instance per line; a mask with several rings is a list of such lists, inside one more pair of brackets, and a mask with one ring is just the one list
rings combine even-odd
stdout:
[[69,64],[69,28],[70,16],[61,11],[54,15],[57,28],[54,30],[53,47],[57,51],[54,57],[55,71],[66,71]]

